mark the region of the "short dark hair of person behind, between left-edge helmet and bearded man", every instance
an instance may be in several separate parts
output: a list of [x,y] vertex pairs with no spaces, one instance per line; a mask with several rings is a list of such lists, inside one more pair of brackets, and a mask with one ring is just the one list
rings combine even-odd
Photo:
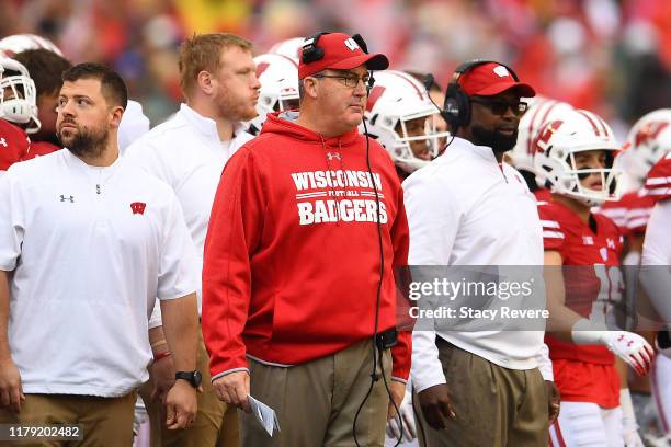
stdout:
[[72,67],[65,57],[44,48],[26,49],[16,53],[12,58],[29,70],[31,79],[35,82],[37,96],[58,93],[62,87],[62,72]]

